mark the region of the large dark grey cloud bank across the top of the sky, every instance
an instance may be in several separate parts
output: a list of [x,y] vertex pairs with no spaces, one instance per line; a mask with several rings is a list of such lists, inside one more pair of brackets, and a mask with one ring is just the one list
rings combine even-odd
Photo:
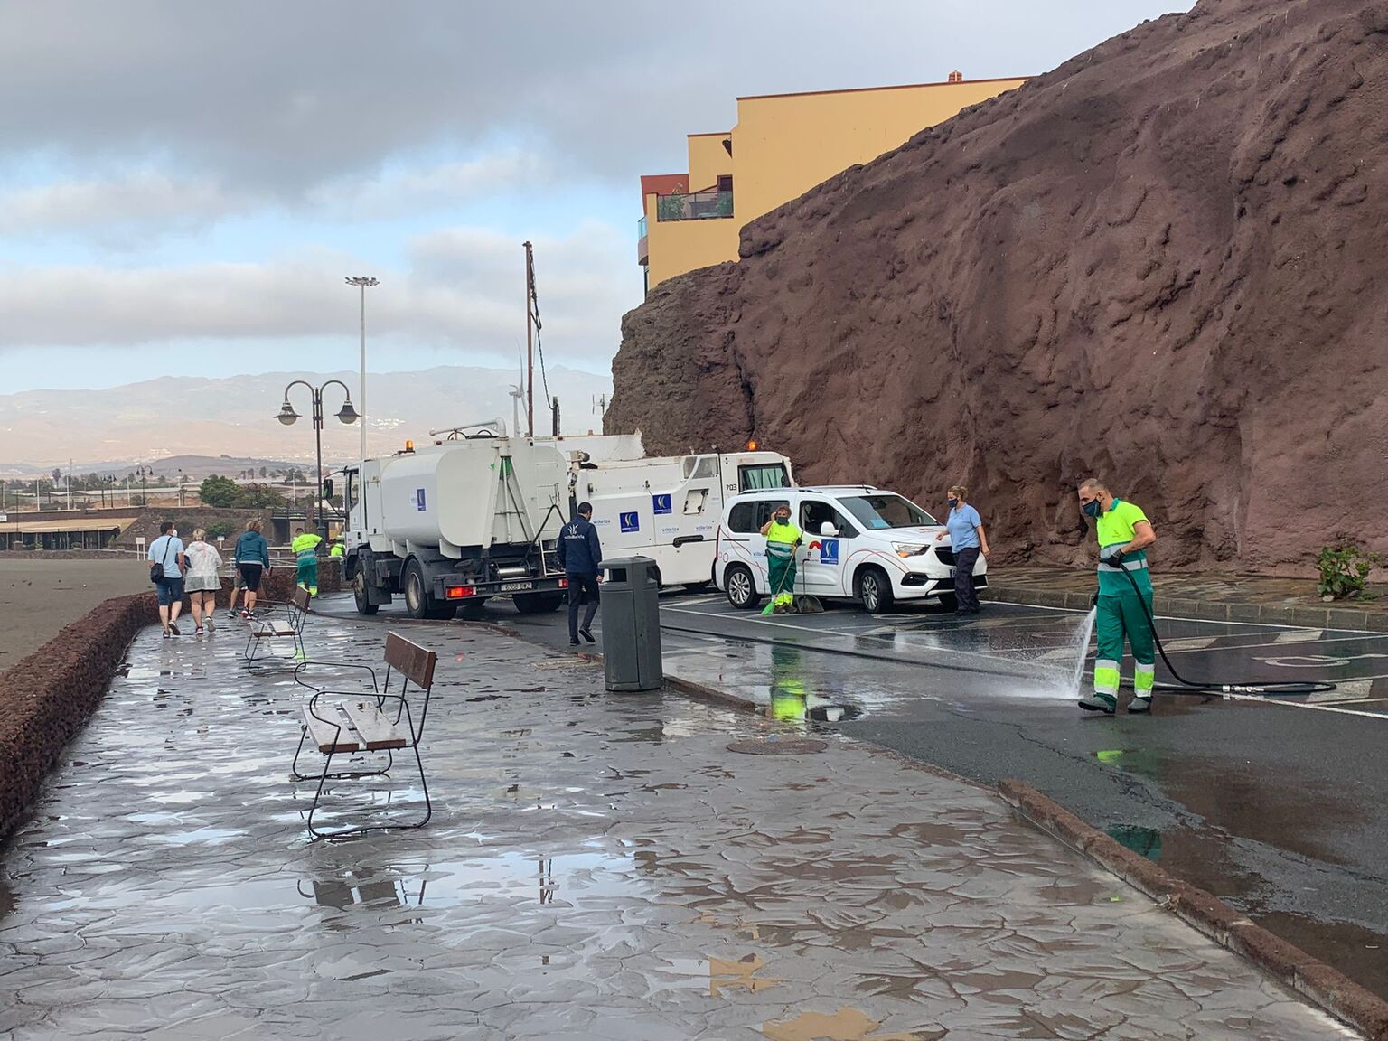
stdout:
[[1034,74],[1190,0],[3,3],[6,154],[169,168],[297,198],[400,154],[526,133],[632,179],[723,129],[737,94]]

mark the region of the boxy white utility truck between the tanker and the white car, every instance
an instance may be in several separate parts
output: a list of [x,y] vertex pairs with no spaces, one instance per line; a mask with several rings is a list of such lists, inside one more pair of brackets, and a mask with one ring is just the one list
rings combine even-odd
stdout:
[[593,504],[604,557],[650,557],[662,586],[706,589],[723,504],[740,491],[788,489],[790,459],[766,451],[593,461],[577,454],[569,496]]

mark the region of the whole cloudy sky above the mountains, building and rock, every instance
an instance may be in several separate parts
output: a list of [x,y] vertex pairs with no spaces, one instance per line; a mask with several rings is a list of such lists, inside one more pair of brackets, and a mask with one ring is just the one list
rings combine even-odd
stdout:
[[0,393],[160,375],[602,373],[638,178],[738,94],[1034,75],[1187,0],[0,0]]

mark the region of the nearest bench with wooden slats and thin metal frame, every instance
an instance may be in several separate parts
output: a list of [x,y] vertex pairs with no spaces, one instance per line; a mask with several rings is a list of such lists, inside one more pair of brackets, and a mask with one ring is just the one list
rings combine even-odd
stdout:
[[[386,634],[386,680],[378,687],[376,670],[366,665],[339,665],[325,662],[304,662],[294,669],[294,680],[314,691],[304,705],[304,722],[294,752],[291,776],[296,781],[318,779],[314,804],[308,809],[308,831],[314,838],[339,838],[373,830],[423,827],[433,815],[429,801],[429,783],[425,780],[425,763],[419,756],[419,743],[423,740],[425,720],[429,716],[429,697],[433,688],[434,665],[439,655],[396,633]],[[316,687],[304,679],[311,668],[362,669],[371,675],[371,690],[341,691]],[[398,690],[391,691],[391,680],[400,680]],[[318,773],[303,773],[298,758],[305,745],[312,745],[323,756],[323,768]],[[416,820],[373,820],[355,827],[323,830],[314,826],[314,813],[322,802],[323,788],[329,779],[380,777],[394,766],[396,751],[409,748],[415,754],[419,769],[419,787],[423,791],[423,816]],[[384,754],[382,766],[379,755]],[[351,756],[347,769],[333,772],[335,756]],[[373,758],[375,763],[368,762]]]

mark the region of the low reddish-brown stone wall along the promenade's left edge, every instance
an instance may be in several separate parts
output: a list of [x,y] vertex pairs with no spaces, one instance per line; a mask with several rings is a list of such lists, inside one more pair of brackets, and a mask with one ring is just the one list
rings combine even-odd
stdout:
[[130,640],[157,622],[151,593],[107,600],[0,675],[0,840],[100,704]]

